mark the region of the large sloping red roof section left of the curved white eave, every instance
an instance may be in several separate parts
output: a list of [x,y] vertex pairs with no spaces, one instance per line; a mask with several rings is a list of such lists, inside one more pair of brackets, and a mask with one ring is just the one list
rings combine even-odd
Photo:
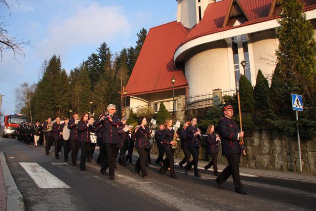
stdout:
[[133,72],[126,85],[128,95],[187,86],[184,66],[175,65],[173,53],[184,40],[188,29],[176,21],[149,30]]

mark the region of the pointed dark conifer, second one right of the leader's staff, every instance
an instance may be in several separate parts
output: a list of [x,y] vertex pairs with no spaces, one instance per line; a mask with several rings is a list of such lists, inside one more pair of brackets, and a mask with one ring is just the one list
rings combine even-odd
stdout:
[[261,70],[258,71],[256,85],[253,89],[256,111],[260,112],[260,119],[276,119],[269,96],[269,82]]

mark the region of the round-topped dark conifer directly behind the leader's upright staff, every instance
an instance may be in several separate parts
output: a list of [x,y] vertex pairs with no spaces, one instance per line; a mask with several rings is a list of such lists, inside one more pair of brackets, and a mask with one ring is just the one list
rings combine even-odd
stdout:
[[239,79],[239,94],[241,112],[252,112],[255,109],[253,88],[249,80],[241,75]]

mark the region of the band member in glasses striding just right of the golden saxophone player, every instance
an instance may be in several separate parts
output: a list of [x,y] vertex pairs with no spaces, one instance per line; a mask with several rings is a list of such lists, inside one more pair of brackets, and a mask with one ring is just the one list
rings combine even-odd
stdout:
[[201,175],[198,173],[197,170],[197,163],[198,163],[198,151],[199,151],[199,141],[198,136],[201,134],[201,131],[197,129],[197,119],[191,119],[191,125],[186,128],[186,137],[188,148],[192,154],[193,160],[184,167],[186,173],[191,168],[192,164],[194,166],[194,175],[200,177]]

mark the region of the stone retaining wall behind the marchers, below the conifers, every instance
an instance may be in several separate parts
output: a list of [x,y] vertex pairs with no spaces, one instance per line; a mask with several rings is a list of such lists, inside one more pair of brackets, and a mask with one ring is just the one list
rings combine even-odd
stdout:
[[[299,172],[298,143],[296,136],[284,135],[281,131],[273,130],[252,130],[245,131],[246,156],[241,156],[240,166]],[[218,162],[226,164],[225,156],[218,153]],[[151,154],[158,154],[156,143]],[[303,173],[316,174],[316,139],[301,140],[301,156]],[[176,158],[183,158],[183,152],[178,144],[175,152]],[[201,147],[199,159],[209,160],[206,149]]]

